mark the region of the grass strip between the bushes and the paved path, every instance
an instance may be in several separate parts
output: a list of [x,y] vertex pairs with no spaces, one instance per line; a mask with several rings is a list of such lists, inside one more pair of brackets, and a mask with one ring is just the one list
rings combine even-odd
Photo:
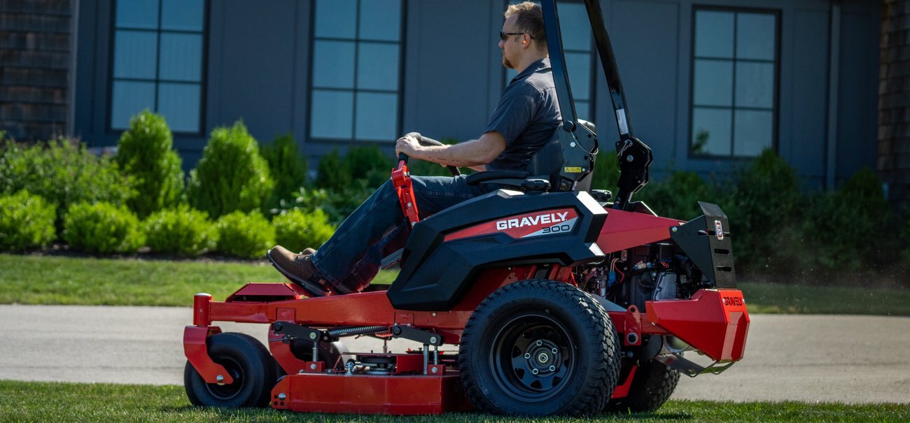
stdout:
[[[374,283],[389,284],[393,271]],[[286,279],[265,262],[15,256],[0,254],[0,304],[189,306],[224,300],[248,282]],[[741,283],[753,313],[910,316],[910,289]]]

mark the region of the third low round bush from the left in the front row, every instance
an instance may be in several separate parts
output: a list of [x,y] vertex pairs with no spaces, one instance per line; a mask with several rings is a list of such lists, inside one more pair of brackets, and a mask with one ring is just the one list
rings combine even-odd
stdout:
[[157,253],[196,257],[217,247],[218,232],[206,212],[181,205],[146,219],[147,245]]

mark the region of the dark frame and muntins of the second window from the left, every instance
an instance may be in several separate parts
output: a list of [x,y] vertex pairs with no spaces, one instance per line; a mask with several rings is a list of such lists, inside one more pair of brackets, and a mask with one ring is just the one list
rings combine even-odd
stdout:
[[[352,39],[339,39],[335,37],[319,37],[316,35],[316,9],[317,1],[314,0],[309,2],[309,40],[308,40],[308,76],[307,76],[307,116],[306,116],[306,126],[304,131],[306,132],[306,139],[308,142],[315,142],[320,144],[330,144],[330,145],[369,145],[369,146],[391,146],[394,145],[396,139],[401,133],[401,127],[403,126],[404,116],[404,89],[405,89],[405,64],[407,56],[407,19],[408,19],[408,0],[400,0],[401,10],[399,17],[399,40],[398,42],[392,41],[379,41],[371,39],[361,39],[360,38],[360,3],[363,1],[369,0],[356,0],[357,1],[357,19],[354,22],[354,38]],[[319,88],[313,86],[313,75],[316,68],[316,42],[317,41],[346,41],[354,44],[354,87],[348,88]],[[358,76],[358,53],[359,53],[359,44],[367,42],[378,42],[386,43],[389,45],[397,44],[399,45],[399,66],[398,66],[398,89],[395,91],[395,95],[398,96],[397,101],[397,110],[395,111],[395,136],[389,138],[389,140],[379,140],[379,139],[369,139],[369,138],[357,138],[357,94],[359,92],[366,93],[382,93],[382,94],[391,94],[391,90],[374,90],[374,89],[360,89],[357,87],[357,76]],[[313,91],[314,90],[326,90],[326,91],[338,91],[338,92],[348,92],[351,93],[354,98],[352,100],[352,110],[351,110],[351,121],[350,121],[350,137],[349,138],[330,138],[325,136],[312,136],[313,130]]]

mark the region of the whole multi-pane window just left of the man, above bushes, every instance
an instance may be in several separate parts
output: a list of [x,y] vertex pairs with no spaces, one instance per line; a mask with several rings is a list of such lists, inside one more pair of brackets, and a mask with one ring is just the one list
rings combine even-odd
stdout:
[[309,136],[399,136],[401,0],[318,0],[313,24]]

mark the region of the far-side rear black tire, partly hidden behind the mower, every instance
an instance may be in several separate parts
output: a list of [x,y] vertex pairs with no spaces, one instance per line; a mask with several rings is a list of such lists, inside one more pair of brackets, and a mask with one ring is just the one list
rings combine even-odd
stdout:
[[657,411],[667,399],[670,399],[679,381],[680,372],[664,366],[659,361],[645,361],[635,370],[632,386],[629,387],[629,396],[611,399],[604,411],[608,413]]

